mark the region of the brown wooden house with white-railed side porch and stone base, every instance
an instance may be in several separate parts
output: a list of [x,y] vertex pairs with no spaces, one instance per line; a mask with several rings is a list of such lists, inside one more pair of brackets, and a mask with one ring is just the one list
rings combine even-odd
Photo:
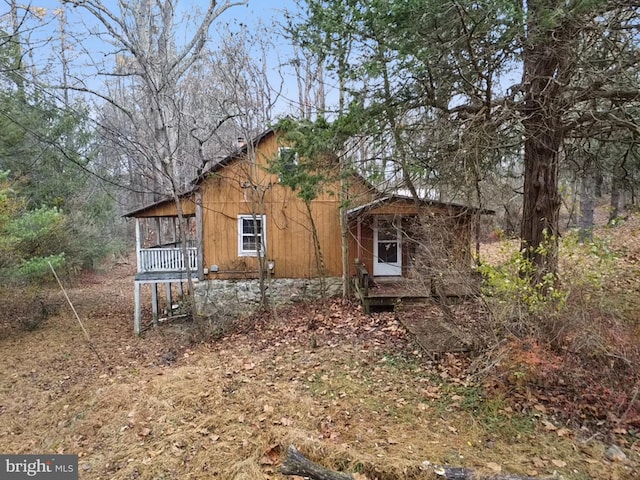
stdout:
[[[452,252],[470,265],[472,215],[477,209],[441,202],[419,202],[385,196],[359,175],[338,180],[328,163],[322,188],[304,201],[270,172],[273,159],[289,155],[273,130],[256,137],[208,168],[180,197],[185,221],[179,228],[177,202],[167,198],[126,214],[136,220],[138,273],[135,277],[135,331],[141,328],[140,291],[152,285],[153,316],[158,316],[158,285],[164,284],[171,304],[171,285],[191,279],[201,311],[225,313],[271,299],[292,301],[331,295],[342,286],[340,191],[347,196],[350,276],[359,270],[375,278],[408,275],[419,250],[408,241],[411,219],[422,214],[455,218],[458,246]],[[284,157],[282,157],[284,158]],[[290,159],[296,162],[295,158]],[[333,174],[335,173],[335,175]],[[155,227],[145,238],[142,224]],[[146,245],[151,243],[151,245]],[[357,259],[357,263],[356,263]],[[188,273],[187,273],[188,272]]]

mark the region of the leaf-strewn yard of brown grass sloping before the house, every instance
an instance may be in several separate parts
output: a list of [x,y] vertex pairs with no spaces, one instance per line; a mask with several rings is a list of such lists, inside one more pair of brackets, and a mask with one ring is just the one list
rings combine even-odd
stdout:
[[194,342],[179,323],[135,337],[133,270],[66,285],[92,347],[56,289],[57,313],[33,331],[0,306],[0,452],[78,454],[81,479],[285,478],[289,444],[359,478],[431,478],[424,461],[640,478],[629,434],[627,460],[611,461],[615,437],[485,398],[465,360],[423,356],[393,314],[331,301],[216,342]]

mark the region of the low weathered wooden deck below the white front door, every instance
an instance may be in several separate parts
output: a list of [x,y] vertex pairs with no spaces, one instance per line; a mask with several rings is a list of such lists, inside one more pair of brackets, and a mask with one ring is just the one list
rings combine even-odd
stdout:
[[438,297],[466,298],[477,294],[479,280],[470,272],[452,272],[438,278],[372,277],[362,264],[356,265],[355,294],[365,313],[372,309],[395,309],[416,305]]

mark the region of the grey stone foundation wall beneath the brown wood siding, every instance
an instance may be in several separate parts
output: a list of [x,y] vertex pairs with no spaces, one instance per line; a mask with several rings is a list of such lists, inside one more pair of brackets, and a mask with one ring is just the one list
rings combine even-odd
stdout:
[[[342,278],[324,279],[327,297],[339,295]],[[246,315],[260,303],[259,280],[205,280],[194,285],[196,309],[200,315]],[[287,305],[322,297],[320,280],[277,278],[267,281],[270,305]]]

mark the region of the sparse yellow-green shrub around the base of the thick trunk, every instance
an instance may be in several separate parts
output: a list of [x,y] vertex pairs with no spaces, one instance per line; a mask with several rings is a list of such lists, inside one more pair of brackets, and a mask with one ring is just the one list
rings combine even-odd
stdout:
[[[536,253],[544,253],[545,245],[539,248]],[[615,274],[616,255],[605,239],[594,236],[584,243],[577,232],[570,232],[561,239],[559,259],[558,275],[547,274],[538,282],[532,281],[534,266],[522,251],[500,265],[477,267],[499,338],[507,331],[558,345],[567,338],[589,336],[584,322],[591,317],[590,311],[600,309],[604,284]]]

